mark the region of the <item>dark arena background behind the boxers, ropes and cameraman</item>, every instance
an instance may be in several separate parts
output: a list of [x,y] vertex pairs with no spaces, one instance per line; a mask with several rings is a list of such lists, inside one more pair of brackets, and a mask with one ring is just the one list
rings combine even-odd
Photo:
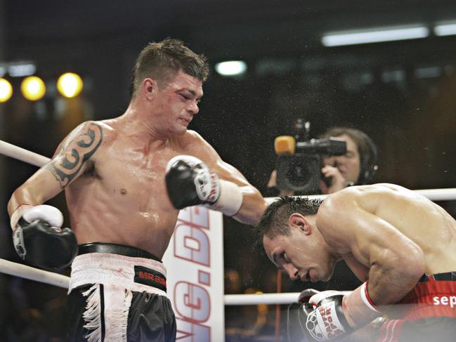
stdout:
[[[16,91],[0,105],[0,137],[51,156],[81,121],[122,114],[137,53],[149,41],[174,37],[207,55],[212,66],[222,60],[247,61],[242,77],[221,77],[212,70],[190,129],[200,132],[263,195],[276,195],[266,188],[275,164],[274,138],[292,133],[298,118],[311,122],[312,137],[330,126],[365,131],[379,148],[375,182],[453,188],[456,36],[431,32],[426,39],[336,48],[320,43],[328,31],[416,23],[432,27],[442,20],[456,20],[456,1],[0,0],[0,61],[34,62],[48,86],[38,103]],[[53,86],[67,71],[86,82],[82,95],[72,100],[57,96]],[[11,81],[18,86],[20,80]],[[0,157],[0,256],[8,260],[18,258],[6,202],[34,170]],[[65,208],[63,196],[51,204]],[[439,204],[455,216],[454,202]],[[240,277],[238,283],[227,282],[226,292],[275,292],[275,269],[252,247],[249,227],[226,218],[224,235],[226,269]],[[11,341],[28,341],[27,334],[34,336],[30,341],[38,341],[37,334],[41,341],[62,338],[63,289],[5,275],[1,279],[0,325]],[[355,284],[341,268],[330,284],[313,287],[351,289]],[[308,286],[282,279],[282,291]],[[227,317],[229,327],[233,319],[228,311]],[[271,317],[265,334],[271,332]],[[246,329],[252,328],[252,322],[242,320]],[[21,328],[25,321],[27,329]]]

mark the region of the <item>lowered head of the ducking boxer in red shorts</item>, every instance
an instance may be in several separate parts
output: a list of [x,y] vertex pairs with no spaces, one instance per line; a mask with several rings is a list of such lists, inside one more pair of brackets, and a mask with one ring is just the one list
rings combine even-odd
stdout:
[[321,202],[281,197],[268,206],[255,227],[268,258],[292,280],[327,281],[334,270],[337,260],[315,226]]

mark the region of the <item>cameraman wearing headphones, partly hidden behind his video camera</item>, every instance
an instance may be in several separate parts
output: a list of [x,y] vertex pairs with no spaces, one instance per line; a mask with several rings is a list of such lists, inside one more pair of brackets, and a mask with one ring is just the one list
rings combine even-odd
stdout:
[[[320,193],[332,194],[351,185],[363,185],[370,182],[377,171],[377,147],[362,131],[348,127],[333,127],[319,138],[341,138],[346,142],[346,153],[341,156],[323,157],[320,180]],[[277,172],[271,173],[268,188],[277,185]],[[292,190],[279,189],[280,196],[308,195]]]

